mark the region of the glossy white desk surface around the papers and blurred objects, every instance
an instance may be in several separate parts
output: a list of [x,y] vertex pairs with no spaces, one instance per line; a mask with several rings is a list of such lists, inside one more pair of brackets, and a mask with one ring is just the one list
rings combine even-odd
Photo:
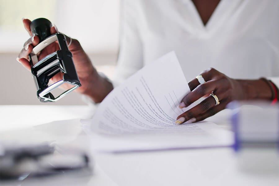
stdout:
[[[40,115],[41,113],[47,113]],[[88,118],[87,106],[0,106],[0,139],[37,140],[47,136],[57,143],[86,139],[78,122],[48,123],[53,120]],[[226,111],[213,121],[228,128]],[[78,120],[77,120],[78,121]],[[20,130],[9,131],[20,127]],[[32,135],[29,134],[32,133]],[[46,135],[47,134],[47,135]],[[82,145],[82,144],[80,144]],[[84,144],[83,144],[84,145]],[[240,172],[229,148],[161,151],[126,154],[94,154],[93,175],[56,176],[25,181],[21,185],[278,185],[279,176]],[[43,180],[43,182],[42,182]]]

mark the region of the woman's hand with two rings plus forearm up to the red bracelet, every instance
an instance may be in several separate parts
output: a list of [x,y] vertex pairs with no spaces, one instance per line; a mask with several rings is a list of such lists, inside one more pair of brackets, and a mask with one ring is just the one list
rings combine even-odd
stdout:
[[[223,110],[232,100],[272,99],[270,87],[261,79],[232,79],[213,68],[202,72],[200,75],[206,82],[200,84],[197,78],[190,81],[188,85],[191,92],[182,99],[179,107],[188,107],[201,97],[207,97],[200,104],[179,115],[177,124],[202,121]],[[211,93],[218,97],[218,105],[216,105],[215,98],[210,95]]]

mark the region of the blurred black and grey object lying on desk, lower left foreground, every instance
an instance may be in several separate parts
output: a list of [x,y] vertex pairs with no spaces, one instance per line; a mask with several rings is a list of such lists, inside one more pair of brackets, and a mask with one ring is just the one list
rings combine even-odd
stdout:
[[1,147],[0,180],[24,180],[71,171],[91,172],[89,158],[79,150],[57,152],[47,143]]

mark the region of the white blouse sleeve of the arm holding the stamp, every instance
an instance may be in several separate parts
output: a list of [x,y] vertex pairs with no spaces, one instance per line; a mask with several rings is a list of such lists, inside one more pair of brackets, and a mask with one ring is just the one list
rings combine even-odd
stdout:
[[142,42],[135,2],[122,0],[120,4],[119,54],[113,77],[114,87],[143,67]]

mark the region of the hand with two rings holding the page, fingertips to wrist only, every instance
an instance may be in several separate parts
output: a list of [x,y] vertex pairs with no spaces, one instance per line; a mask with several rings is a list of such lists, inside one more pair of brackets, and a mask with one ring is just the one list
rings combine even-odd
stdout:
[[224,109],[233,97],[231,81],[223,73],[211,68],[201,73],[201,76],[203,76],[206,82],[200,84],[197,78],[189,82],[188,85],[191,92],[182,99],[179,107],[188,107],[201,97],[211,94],[211,92],[214,92],[214,96],[209,95],[200,104],[179,115],[176,121],[178,125],[201,121],[214,115]]

